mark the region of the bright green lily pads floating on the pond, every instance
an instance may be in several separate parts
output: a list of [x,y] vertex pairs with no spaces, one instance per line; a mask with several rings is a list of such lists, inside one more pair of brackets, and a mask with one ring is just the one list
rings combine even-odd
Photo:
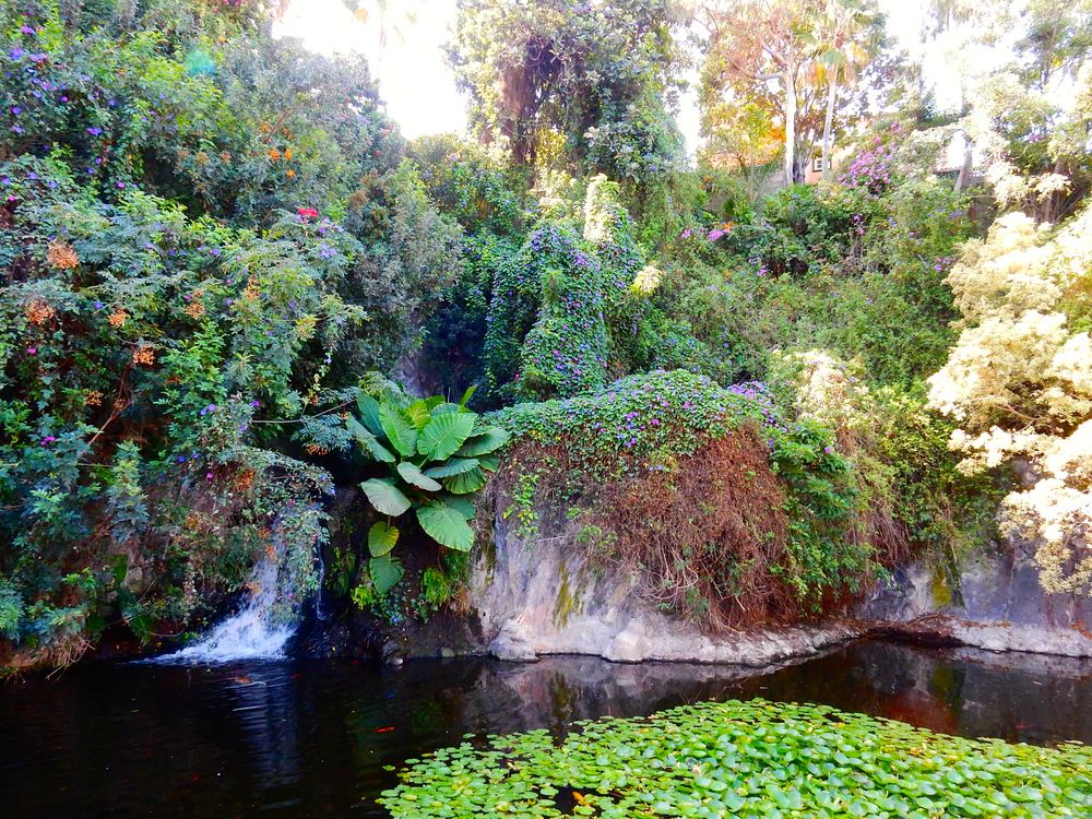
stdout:
[[[470,739],[470,737],[467,737]],[[1080,817],[1092,751],[962,739],[826,705],[708,702],[408,760],[394,817]]]

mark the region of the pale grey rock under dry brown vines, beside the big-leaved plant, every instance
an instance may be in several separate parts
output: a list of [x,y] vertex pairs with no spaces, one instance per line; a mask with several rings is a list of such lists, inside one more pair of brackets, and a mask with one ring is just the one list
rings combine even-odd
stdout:
[[560,538],[524,543],[503,519],[470,582],[483,648],[501,660],[595,654],[762,666],[814,654],[859,634],[847,625],[708,634],[646,602],[638,581],[615,567],[590,566]]

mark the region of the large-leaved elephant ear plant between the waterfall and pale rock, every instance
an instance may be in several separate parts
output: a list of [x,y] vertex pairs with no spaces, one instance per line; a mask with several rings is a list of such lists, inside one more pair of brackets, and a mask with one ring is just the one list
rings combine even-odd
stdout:
[[390,471],[360,484],[376,511],[387,515],[368,531],[369,570],[379,594],[402,579],[402,565],[391,555],[399,539],[392,520],[411,509],[442,546],[468,551],[474,545],[471,496],[485,486],[486,473],[496,471],[496,452],[509,435],[466,408],[472,393],[473,388],[458,404],[441,396],[403,404],[364,395],[358,417],[346,419],[364,454]]

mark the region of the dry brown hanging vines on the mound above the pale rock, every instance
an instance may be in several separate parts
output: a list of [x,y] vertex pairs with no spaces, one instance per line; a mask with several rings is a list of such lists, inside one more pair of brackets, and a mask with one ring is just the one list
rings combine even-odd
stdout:
[[[666,468],[620,479],[563,485],[565,476],[587,474],[571,461],[563,446],[519,444],[496,487],[501,509],[525,503],[517,500],[520,476],[537,474],[539,536],[563,537],[593,561],[634,569],[650,601],[710,630],[793,622],[811,613],[785,580],[785,490],[753,427],[711,439]],[[549,520],[549,510],[566,506],[580,513]]]

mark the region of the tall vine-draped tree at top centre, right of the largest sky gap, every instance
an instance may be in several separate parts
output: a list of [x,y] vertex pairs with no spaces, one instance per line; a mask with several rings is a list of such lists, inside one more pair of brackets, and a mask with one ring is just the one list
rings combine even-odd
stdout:
[[559,138],[570,166],[639,180],[681,153],[672,25],[667,0],[460,0],[448,54],[483,141],[533,165]]

